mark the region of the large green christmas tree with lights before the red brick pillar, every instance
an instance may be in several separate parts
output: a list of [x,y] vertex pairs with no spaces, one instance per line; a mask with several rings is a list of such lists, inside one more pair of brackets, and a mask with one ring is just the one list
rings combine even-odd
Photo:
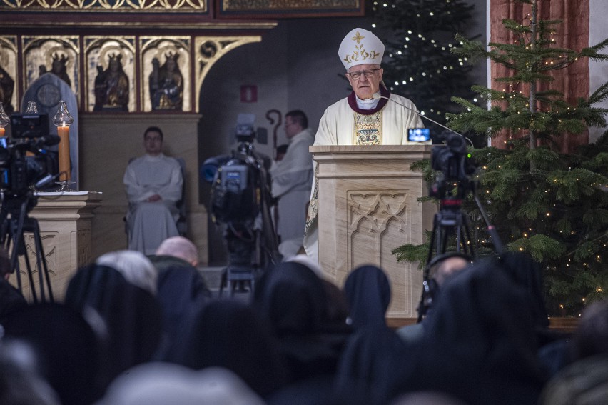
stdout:
[[[453,99],[465,111],[448,114],[449,126],[492,137],[508,134],[504,149],[470,150],[479,166],[474,177],[482,209],[507,249],[525,251],[542,264],[550,313],[577,315],[608,289],[608,131],[595,144],[568,153],[560,153],[559,139],[607,125],[608,109],[594,105],[608,98],[608,83],[569,104],[551,88],[552,74],[587,58],[607,61],[599,51],[608,39],[578,51],[560,48],[552,38],[560,21],[539,19],[537,0],[517,1],[530,4],[530,15],[522,22],[503,21],[513,43],[490,43],[488,50],[479,41],[458,38],[462,46],[455,54],[490,58],[510,75],[492,78],[505,84],[503,91],[473,87],[492,102],[490,109]],[[469,200],[463,210],[472,228],[482,230],[475,232],[475,244],[490,251],[485,221]],[[395,253],[401,260],[425,260],[424,248],[406,245]]]

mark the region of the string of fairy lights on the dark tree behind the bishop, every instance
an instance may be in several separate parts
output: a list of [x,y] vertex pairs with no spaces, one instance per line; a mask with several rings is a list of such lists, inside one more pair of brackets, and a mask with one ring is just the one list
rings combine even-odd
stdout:
[[[451,0],[445,0],[446,4],[450,4],[450,6],[457,6],[457,4]],[[382,8],[388,8],[391,7],[392,9],[395,9],[397,6],[395,4],[388,4],[387,2],[378,2],[378,1],[374,1],[373,3],[373,9],[376,10],[378,9],[378,7],[382,7]],[[435,12],[434,11],[427,11],[429,16],[435,16]],[[452,14],[452,12],[450,10],[445,11],[446,14]],[[422,18],[422,14],[417,13],[416,14],[417,18]],[[377,24],[372,24],[373,28],[377,28]],[[432,39],[432,38],[427,38],[427,36],[423,35],[423,34],[415,34],[412,30],[407,30],[406,31],[406,35],[405,38],[403,39],[404,42],[402,44],[403,49],[409,49],[410,46],[414,46],[413,43],[415,40],[419,40],[422,43],[422,46],[432,46],[432,48],[440,48],[442,51],[446,51],[446,52],[450,52],[450,49],[452,49],[455,44],[452,43],[448,43],[446,45],[442,45],[441,41],[439,39]],[[460,42],[460,45],[462,45],[462,42]],[[393,52],[389,52],[388,56],[390,58],[394,58],[395,56],[401,56],[403,54],[403,51],[400,49],[397,49],[394,53]],[[467,57],[462,56],[462,57],[458,57],[458,64],[460,66],[464,66],[465,62],[467,61]],[[454,70],[454,66],[452,66],[451,64],[446,64],[444,66],[442,66],[441,69],[436,69],[435,72],[430,72],[430,71],[421,71],[421,72],[417,72],[417,74],[419,74],[420,78],[416,78],[417,74],[413,74],[412,76],[410,76],[407,79],[401,79],[400,81],[394,81],[390,86],[389,89],[390,91],[395,91],[395,89],[397,89],[400,86],[406,86],[408,83],[412,83],[413,81],[419,79],[419,80],[424,80],[424,79],[432,79],[434,77],[434,74],[440,75],[442,73],[444,73],[445,71],[450,71],[450,70]],[[409,79],[409,81],[408,81]],[[483,98],[483,95],[480,95],[480,98]],[[474,97],[472,99],[472,101],[474,103],[478,102],[477,97]],[[433,114],[437,114],[437,115],[442,115],[442,111],[435,111],[435,109],[430,108],[429,110],[431,113]],[[420,114],[425,115],[425,111],[420,111]],[[447,117],[446,117],[447,119]]]

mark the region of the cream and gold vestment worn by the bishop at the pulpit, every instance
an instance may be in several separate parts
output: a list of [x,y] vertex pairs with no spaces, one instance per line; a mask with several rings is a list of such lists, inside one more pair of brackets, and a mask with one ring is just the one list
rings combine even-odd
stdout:
[[[374,109],[363,111],[358,108],[358,111],[355,111],[352,106],[357,104],[353,93],[325,109],[315,135],[314,145],[358,145],[365,144],[365,142],[382,145],[417,144],[417,142],[410,142],[407,139],[407,133],[410,128],[423,128],[422,119],[415,112],[397,104],[404,104],[417,111],[414,103],[405,97],[389,94],[385,89],[380,91],[382,96],[390,96],[392,101],[381,99]],[[370,119],[365,121],[366,117]],[[378,121],[373,121],[374,118]],[[370,134],[367,138],[365,138],[366,133]],[[316,169],[315,161],[313,161],[313,167]],[[318,196],[316,193],[316,184],[313,184],[304,234],[304,248],[308,256],[318,262]]]

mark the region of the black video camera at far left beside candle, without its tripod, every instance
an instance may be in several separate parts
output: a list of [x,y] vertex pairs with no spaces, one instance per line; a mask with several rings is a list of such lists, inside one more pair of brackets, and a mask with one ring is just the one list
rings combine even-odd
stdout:
[[19,197],[32,186],[42,189],[51,184],[58,170],[57,154],[46,146],[59,144],[59,136],[49,135],[49,117],[13,114],[11,134],[11,141],[0,138],[0,190]]

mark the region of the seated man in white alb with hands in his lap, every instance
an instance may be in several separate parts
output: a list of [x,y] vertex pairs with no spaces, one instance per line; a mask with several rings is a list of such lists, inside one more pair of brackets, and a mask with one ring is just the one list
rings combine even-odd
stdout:
[[179,162],[162,153],[160,128],[146,129],[143,146],[146,154],[128,164],[123,182],[129,201],[128,249],[150,255],[162,241],[178,235],[176,203],[183,178]]

